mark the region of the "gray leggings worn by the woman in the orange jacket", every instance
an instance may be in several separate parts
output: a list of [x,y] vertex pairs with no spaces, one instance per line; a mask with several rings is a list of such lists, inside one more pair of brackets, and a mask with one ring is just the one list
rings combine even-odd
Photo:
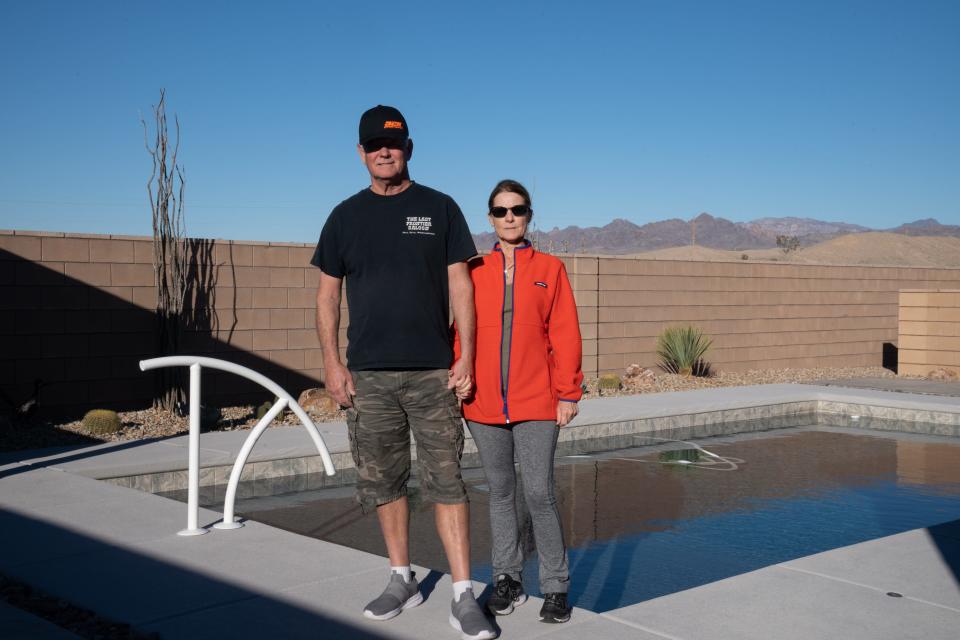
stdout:
[[467,421],[467,426],[477,444],[490,487],[493,575],[506,573],[519,580],[523,569],[513,462],[516,454],[540,558],[540,591],[566,593],[570,573],[553,492],[553,454],[559,431],[556,422],[530,420],[518,422],[512,429],[471,421]]

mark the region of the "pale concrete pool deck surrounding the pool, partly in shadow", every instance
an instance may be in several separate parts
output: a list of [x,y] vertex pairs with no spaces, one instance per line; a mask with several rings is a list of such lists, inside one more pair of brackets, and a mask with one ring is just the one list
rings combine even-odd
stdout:
[[[569,433],[696,429],[718,415],[762,418],[765,407],[838,416],[854,408],[866,417],[923,418],[935,433],[960,433],[960,397],[789,384],[586,400]],[[320,428],[332,453],[349,455],[342,424]],[[203,434],[201,464],[231,462],[247,433]],[[297,459],[310,446],[302,427],[274,427],[252,460]],[[172,473],[185,461],[185,437],[0,455],[0,571],[165,638],[459,636],[446,621],[449,576],[418,569],[426,602],[388,622],[368,621],[359,610],[383,587],[383,558],[256,522],[179,537],[185,505],[98,480]],[[219,519],[201,510],[201,525]],[[496,622],[504,638],[955,638],[958,576],[960,523],[954,522],[602,614],[578,609],[565,625],[537,622],[536,601]],[[7,619],[0,616],[0,625]],[[0,635],[15,637],[4,627]]]

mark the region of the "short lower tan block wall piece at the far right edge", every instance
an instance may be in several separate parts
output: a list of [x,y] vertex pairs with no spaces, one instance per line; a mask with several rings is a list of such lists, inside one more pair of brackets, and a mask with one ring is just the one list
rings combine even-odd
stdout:
[[960,289],[902,290],[899,346],[901,374],[960,374]]

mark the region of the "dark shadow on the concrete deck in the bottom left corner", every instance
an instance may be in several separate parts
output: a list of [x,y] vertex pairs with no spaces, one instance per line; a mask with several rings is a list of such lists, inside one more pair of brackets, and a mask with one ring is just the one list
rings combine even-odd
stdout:
[[[160,631],[163,637],[386,637],[284,602],[268,592],[231,584],[12,511],[0,509],[0,530],[8,541],[0,546],[0,567],[7,575],[113,621]],[[318,563],[317,576],[323,574],[324,567]],[[336,590],[335,579],[329,584]]]

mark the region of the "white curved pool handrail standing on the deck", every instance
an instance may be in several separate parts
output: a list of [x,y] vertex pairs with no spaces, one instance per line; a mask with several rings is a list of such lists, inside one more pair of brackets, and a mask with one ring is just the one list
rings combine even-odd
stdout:
[[313,424],[307,412],[287,393],[283,387],[263,374],[257,373],[252,369],[218,360],[216,358],[207,358],[204,356],[164,356],[162,358],[151,358],[140,361],[140,370],[148,371],[151,369],[161,369],[163,367],[190,367],[190,435],[188,446],[188,471],[187,471],[187,528],[178,532],[182,536],[197,536],[208,532],[199,526],[200,517],[200,370],[201,367],[210,369],[219,369],[248,380],[256,382],[270,391],[279,400],[270,408],[263,418],[257,423],[257,426],[250,432],[247,439],[243,442],[243,447],[237,455],[233,468],[230,471],[230,482],[227,485],[227,495],[223,507],[223,521],[214,525],[217,529],[237,529],[243,524],[236,522],[233,515],[234,502],[237,496],[237,485],[240,484],[240,475],[243,472],[243,466],[253,450],[253,446],[269,426],[273,419],[285,408],[289,407],[298,418],[301,424],[307,429],[313,444],[320,452],[320,458],[323,460],[323,468],[328,476],[335,473],[333,460],[330,458],[330,452],[323,442],[317,426]]

